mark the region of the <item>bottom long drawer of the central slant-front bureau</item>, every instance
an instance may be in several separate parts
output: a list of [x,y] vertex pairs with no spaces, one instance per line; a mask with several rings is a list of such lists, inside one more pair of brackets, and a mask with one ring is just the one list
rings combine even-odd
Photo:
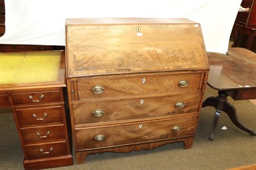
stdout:
[[77,150],[105,148],[193,136],[198,117],[151,120],[76,130]]

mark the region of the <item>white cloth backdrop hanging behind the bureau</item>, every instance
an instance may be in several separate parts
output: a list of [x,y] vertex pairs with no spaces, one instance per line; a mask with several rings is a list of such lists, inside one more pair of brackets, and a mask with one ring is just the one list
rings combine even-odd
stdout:
[[188,18],[207,52],[225,53],[242,0],[6,0],[0,44],[65,45],[66,18]]

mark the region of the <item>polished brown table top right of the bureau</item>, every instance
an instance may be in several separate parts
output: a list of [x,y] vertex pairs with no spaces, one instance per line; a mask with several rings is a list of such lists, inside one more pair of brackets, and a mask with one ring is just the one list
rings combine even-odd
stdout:
[[215,90],[256,88],[256,53],[246,48],[230,48],[228,54],[208,52],[208,85]]

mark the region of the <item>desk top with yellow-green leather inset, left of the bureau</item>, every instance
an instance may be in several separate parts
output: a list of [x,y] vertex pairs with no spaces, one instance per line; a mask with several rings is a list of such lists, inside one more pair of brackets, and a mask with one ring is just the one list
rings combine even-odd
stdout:
[[0,89],[65,86],[65,52],[0,53]]

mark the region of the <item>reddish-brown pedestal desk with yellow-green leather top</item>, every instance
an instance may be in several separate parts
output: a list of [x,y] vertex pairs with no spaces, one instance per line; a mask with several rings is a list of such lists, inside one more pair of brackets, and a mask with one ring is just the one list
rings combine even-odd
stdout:
[[0,53],[0,107],[12,108],[25,169],[74,164],[63,87],[64,51]]

